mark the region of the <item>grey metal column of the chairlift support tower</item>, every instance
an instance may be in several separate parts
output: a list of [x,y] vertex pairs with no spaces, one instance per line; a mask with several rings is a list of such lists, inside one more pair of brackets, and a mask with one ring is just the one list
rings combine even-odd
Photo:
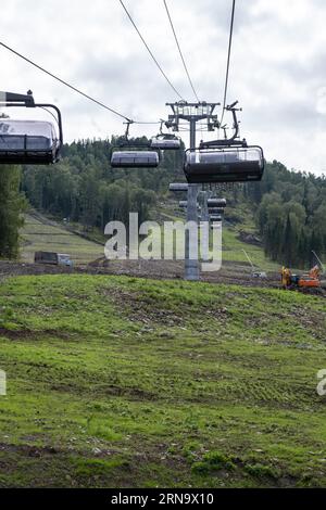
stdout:
[[[196,118],[190,119],[190,149],[196,149]],[[197,212],[198,186],[188,184],[187,192],[187,221],[198,224]],[[185,280],[199,280],[199,260],[198,257],[190,257],[189,232],[186,230],[186,253],[185,253]]]

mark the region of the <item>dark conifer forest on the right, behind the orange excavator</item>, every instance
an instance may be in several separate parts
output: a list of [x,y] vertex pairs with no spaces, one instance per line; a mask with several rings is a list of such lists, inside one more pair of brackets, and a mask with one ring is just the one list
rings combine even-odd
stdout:
[[326,178],[289,171],[274,161],[260,183],[247,186],[265,253],[288,267],[316,263],[326,253]]

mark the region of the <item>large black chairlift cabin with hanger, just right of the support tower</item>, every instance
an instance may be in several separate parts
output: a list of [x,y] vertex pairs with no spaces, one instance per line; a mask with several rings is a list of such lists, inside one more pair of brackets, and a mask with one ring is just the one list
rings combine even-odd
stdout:
[[189,183],[253,182],[262,179],[262,148],[237,140],[239,125],[236,104],[226,107],[234,118],[235,132],[230,139],[201,142],[199,149],[186,151],[184,171]]

